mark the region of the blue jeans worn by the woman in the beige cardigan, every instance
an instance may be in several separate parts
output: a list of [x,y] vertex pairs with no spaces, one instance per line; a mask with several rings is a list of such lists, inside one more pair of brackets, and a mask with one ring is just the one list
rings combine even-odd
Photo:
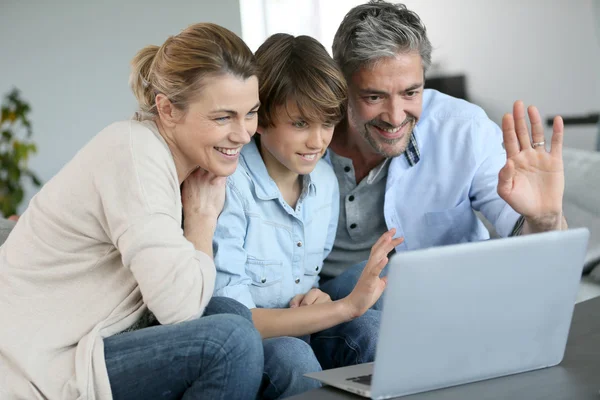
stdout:
[[[226,309],[238,315],[217,315]],[[215,297],[196,320],[105,338],[113,398],[255,399],[264,358],[251,318],[235,300]]]

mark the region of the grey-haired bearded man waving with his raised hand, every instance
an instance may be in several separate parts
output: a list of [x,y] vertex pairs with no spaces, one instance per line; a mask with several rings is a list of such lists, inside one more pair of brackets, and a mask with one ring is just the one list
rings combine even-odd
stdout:
[[348,81],[348,112],[328,154],[340,217],[323,275],[346,271],[322,286],[332,298],[351,290],[360,262],[390,228],[404,237],[396,251],[488,239],[473,210],[501,236],[567,228],[559,117],[547,151],[535,107],[530,137],[522,102],[500,131],[481,108],[424,90],[431,44],[402,4],[374,0],[350,10],[333,56]]

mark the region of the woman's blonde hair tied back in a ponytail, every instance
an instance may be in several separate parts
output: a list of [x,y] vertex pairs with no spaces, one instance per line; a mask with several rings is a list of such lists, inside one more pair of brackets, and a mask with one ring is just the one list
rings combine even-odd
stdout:
[[242,39],[211,23],[191,25],[160,47],[144,47],[131,68],[129,85],[138,100],[139,121],[158,116],[159,93],[185,111],[208,75],[228,73],[247,79],[257,74],[255,58]]

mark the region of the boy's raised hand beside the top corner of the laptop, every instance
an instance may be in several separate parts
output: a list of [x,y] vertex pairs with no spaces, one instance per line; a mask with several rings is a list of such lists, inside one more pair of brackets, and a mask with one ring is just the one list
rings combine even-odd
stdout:
[[354,290],[342,299],[346,303],[349,319],[363,315],[381,297],[387,284],[387,277],[380,278],[379,274],[387,265],[392,249],[404,241],[404,238],[394,239],[396,229],[392,228],[377,240],[371,248],[371,255],[363,269]]

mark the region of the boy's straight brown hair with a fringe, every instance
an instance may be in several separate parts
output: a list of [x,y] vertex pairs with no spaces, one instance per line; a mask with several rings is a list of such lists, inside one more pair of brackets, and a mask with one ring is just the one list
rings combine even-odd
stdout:
[[337,124],[346,113],[346,80],[325,47],[310,36],[270,36],[256,51],[260,77],[258,125],[295,101],[307,122]]

